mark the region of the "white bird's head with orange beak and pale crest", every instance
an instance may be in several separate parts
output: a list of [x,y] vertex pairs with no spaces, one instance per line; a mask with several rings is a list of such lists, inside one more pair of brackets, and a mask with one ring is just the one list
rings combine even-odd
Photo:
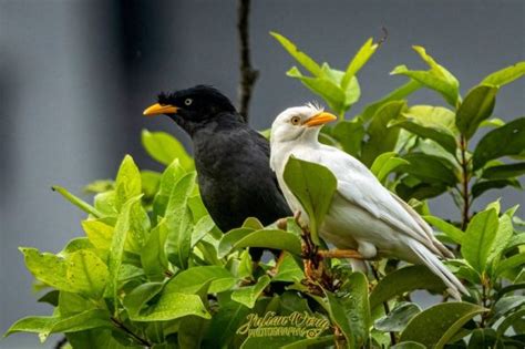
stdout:
[[337,120],[316,104],[289,107],[280,113],[271,124],[270,141],[291,142],[299,138],[317,140],[322,125]]

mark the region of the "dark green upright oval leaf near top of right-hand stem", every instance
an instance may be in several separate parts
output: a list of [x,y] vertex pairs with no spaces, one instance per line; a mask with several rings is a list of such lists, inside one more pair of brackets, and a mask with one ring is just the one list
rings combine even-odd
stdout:
[[496,104],[497,90],[493,86],[475,86],[461,103],[455,123],[467,140],[474,135],[480,124],[492,115]]

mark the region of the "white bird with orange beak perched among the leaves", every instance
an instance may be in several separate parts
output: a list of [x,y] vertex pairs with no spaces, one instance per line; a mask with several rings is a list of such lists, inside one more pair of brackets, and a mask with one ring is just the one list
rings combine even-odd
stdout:
[[[434,237],[421,216],[384,188],[357,158],[319,143],[322,125],[336,119],[319,106],[307,104],[287,109],[271,125],[270,167],[290,208],[307,218],[282,176],[288,158],[294,155],[323,165],[337,177],[337,191],[319,230],[325,240],[338,248],[357,249],[364,259],[391,256],[425,265],[444,281],[454,298],[461,299],[460,291],[469,295],[440,260],[453,257],[452,253]],[[359,265],[353,260],[352,266]]]

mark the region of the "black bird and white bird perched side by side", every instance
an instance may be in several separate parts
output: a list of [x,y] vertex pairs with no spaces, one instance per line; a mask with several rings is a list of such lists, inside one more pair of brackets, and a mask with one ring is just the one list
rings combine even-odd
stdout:
[[[322,125],[337,119],[322,109],[307,104],[280,113],[271,126],[270,144],[244,122],[228,97],[210,86],[162,93],[144,114],[165,114],[189,134],[203,202],[223,232],[240,226],[247,217],[264,225],[297,211],[307,217],[282,176],[294,155],[328,167],[337,177],[322,238],[338,248],[357,249],[366,259],[391,256],[425,265],[454,298],[467,294],[440,260],[453,257],[452,253],[420,215],[358,160],[319,143]],[[352,264],[362,268],[356,260]]]

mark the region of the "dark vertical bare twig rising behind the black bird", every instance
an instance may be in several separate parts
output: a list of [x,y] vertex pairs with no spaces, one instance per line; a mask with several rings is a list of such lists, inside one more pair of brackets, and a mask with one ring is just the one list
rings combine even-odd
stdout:
[[240,45],[240,84],[239,103],[240,115],[248,122],[248,107],[251,99],[254,84],[259,72],[251,66],[249,48],[249,9],[250,0],[238,0],[237,6],[237,30]]

